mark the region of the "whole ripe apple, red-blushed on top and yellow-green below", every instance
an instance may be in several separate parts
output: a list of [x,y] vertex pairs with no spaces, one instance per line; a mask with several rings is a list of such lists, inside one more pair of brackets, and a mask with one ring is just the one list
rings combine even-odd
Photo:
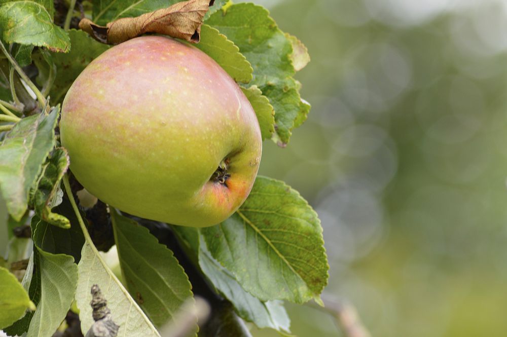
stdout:
[[163,36],[93,60],[65,96],[60,135],[91,194],[191,227],[220,223],[241,206],[262,152],[257,116],[234,80],[197,48]]

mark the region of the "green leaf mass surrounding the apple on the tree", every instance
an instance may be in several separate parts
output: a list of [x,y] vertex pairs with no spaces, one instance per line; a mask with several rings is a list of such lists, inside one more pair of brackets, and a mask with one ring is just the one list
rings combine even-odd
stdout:
[[[167,3],[100,1],[85,10],[95,23],[107,24]],[[70,9],[69,14],[78,11]],[[108,46],[69,29],[68,20],[65,27],[58,26],[55,15],[52,1],[0,2],[0,42],[6,57],[0,62],[6,71],[0,70],[8,74],[4,80],[11,89],[2,96],[7,101],[0,101],[0,202],[10,222],[30,223],[33,242],[21,283],[0,268],[0,310],[2,303],[12,308],[9,315],[0,312],[0,328],[10,335],[49,337],[76,298],[86,333],[92,324],[90,288],[98,284],[120,334],[158,336],[157,329],[184,303],[193,303],[193,293],[211,294],[207,299],[212,304],[220,298],[199,335],[214,335],[216,329],[249,335],[242,320],[289,332],[282,301],[320,303],[329,266],[317,214],[283,182],[258,177],[247,201],[229,219],[201,230],[171,226],[169,243],[144,228],[144,219],[114,208],[109,214],[97,207],[80,210],[73,193],[80,188],[67,172],[72,158],[59,147],[58,103]],[[304,45],[283,33],[264,8],[226,1],[214,2],[200,34],[196,47],[241,84],[263,139],[287,145],[310,107],[293,78],[309,61]],[[37,78],[21,68],[30,64],[37,68]],[[18,99],[30,96],[15,85],[17,77],[11,75],[16,72],[37,94],[33,108]],[[0,229],[7,231],[7,221],[0,220]],[[121,277],[97,250],[99,239],[89,234],[107,226],[112,226]],[[27,308],[34,311],[25,313]],[[188,332],[195,334],[196,323]]]

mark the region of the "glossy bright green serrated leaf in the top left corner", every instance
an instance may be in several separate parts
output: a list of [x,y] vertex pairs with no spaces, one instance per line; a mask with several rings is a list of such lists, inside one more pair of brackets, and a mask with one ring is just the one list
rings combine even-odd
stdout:
[[[42,3],[42,2],[41,2]],[[53,23],[51,12],[35,1],[8,1],[0,5],[0,31],[8,43],[68,52],[68,34]]]

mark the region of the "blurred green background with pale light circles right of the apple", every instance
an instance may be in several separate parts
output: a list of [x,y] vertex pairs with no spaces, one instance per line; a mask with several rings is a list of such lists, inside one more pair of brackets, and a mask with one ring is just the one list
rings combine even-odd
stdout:
[[[255,2],[312,57],[308,121],[261,174],[319,213],[324,297],[375,337],[507,336],[507,3]],[[342,335],[287,307],[294,334]]]

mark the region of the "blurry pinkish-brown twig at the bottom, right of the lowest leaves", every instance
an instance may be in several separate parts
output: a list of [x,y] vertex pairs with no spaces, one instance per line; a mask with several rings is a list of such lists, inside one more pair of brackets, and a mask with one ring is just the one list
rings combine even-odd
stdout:
[[345,337],[371,337],[370,332],[361,322],[357,310],[351,304],[329,298],[323,298],[322,302],[324,303],[323,307],[313,302],[309,302],[308,305],[333,316]]

